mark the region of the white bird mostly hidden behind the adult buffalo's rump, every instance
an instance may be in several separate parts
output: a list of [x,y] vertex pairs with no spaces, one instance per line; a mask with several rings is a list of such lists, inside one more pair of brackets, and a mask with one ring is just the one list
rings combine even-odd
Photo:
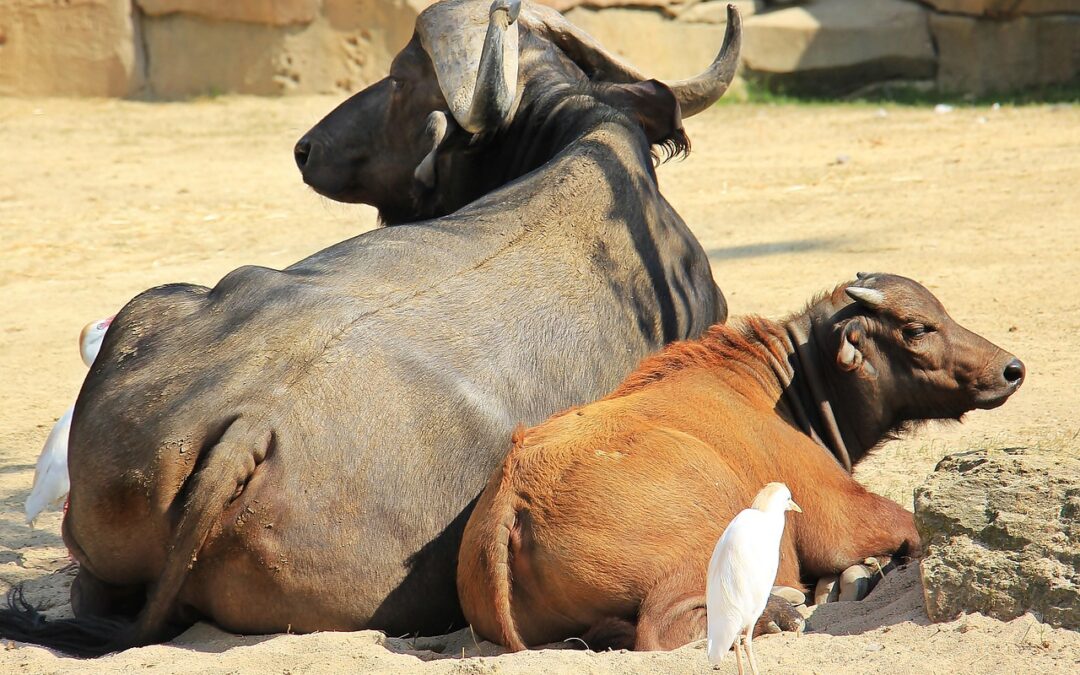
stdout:
[[[83,326],[79,334],[79,353],[87,368],[97,359],[102,339],[111,323],[112,316],[93,321]],[[70,488],[67,475],[67,444],[71,432],[72,413],[75,413],[73,405],[56,420],[53,430],[49,432],[49,437],[45,438],[45,446],[41,448],[41,455],[38,456],[38,465],[33,470],[33,487],[30,489],[30,496],[26,498],[26,522],[31,527],[41,512],[52,504],[62,502]]]

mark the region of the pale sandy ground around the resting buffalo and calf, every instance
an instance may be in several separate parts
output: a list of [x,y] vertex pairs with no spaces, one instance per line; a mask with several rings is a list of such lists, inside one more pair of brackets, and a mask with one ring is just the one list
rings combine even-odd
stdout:
[[[23,521],[33,464],[84,368],[76,338],[156,284],[212,285],[243,264],[283,267],[374,227],[374,213],[300,183],[292,144],[333,98],[186,104],[0,99],[0,591],[27,581],[69,611],[59,514]],[[711,110],[664,193],[701,239],[734,314],[780,315],[856,271],[922,281],[961,323],[1013,351],[1028,381],[1004,407],[883,446],[856,476],[907,507],[949,453],[1077,451],[1080,414],[1080,109],[866,106]],[[1080,634],[1034,617],[933,625],[916,567],[862,603],[819,608],[801,637],[758,640],[770,673],[1077,672]],[[676,673],[672,653],[544,650],[491,658],[468,631],[237,637],[197,625],[96,662],[4,645],[11,673]],[[484,654],[481,658],[462,659]],[[427,664],[422,663],[427,662]],[[729,661],[721,671],[734,672]]]

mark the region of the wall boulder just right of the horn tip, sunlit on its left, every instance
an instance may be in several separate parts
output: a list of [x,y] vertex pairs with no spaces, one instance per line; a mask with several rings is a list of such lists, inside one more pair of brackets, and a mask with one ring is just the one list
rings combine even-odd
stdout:
[[841,94],[933,77],[928,12],[904,0],[818,0],[744,22],[747,76],[797,93]]

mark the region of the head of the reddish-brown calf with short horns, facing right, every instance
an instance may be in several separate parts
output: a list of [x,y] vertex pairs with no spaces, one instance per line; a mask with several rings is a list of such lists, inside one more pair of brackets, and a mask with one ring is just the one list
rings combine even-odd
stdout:
[[835,384],[879,408],[866,417],[890,429],[959,419],[1001,405],[1024,381],[1018,359],[954,321],[921,284],[860,274],[843,291],[854,302],[833,325]]

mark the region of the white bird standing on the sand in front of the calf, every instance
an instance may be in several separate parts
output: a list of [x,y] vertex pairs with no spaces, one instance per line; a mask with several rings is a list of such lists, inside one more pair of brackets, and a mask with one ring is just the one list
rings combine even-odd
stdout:
[[784,512],[802,512],[792,501],[783,483],[769,483],[754,498],[750,509],[739,513],[713,550],[705,580],[705,613],[708,619],[708,662],[720,663],[734,646],[735,665],[742,675],[739,645],[746,650],[750,669],[757,675],[754,659],[754,624],[765,611],[769,592],[780,567],[780,540],[784,535]]

